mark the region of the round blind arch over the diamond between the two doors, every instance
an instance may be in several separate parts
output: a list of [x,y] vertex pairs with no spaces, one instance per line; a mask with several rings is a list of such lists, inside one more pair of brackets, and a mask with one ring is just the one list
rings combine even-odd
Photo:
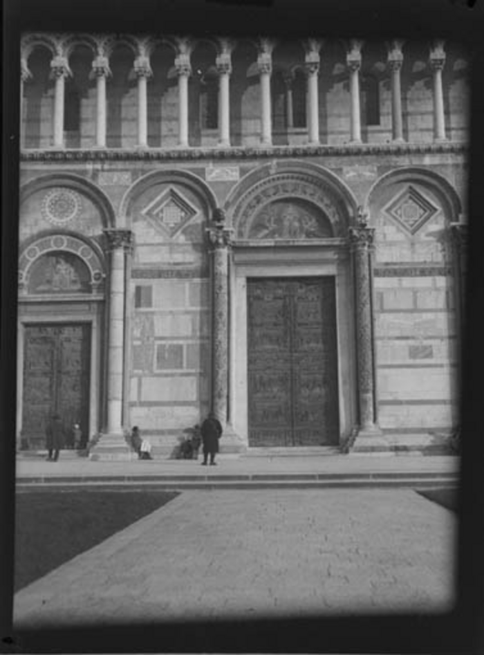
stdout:
[[131,203],[136,200],[140,194],[145,192],[145,190],[157,183],[187,185],[187,187],[201,198],[205,205],[205,209],[207,210],[207,214],[210,217],[212,216],[214,209],[217,207],[217,199],[214,192],[201,178],[193,173],[187,171],[153,171],[140,177],[124,194],[120,205],[120,221],[122,221],[122,224],[126,224]]

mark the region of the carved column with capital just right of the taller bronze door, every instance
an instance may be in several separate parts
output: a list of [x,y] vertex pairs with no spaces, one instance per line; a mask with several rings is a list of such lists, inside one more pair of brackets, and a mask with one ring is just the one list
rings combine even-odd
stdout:
[[373,374],[373,315],[371,306],[371,250],[375,238],[360,214],[357,227],[350,228],[353,250],[356,292],[358,400],[360,433],[379,432],[375,425],[375,381]]

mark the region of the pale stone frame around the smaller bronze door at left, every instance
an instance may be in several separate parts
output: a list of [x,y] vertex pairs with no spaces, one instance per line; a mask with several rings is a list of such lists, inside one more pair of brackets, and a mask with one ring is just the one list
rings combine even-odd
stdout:
[[[36,303],[37,306],[29,307],[30,303],[19,303],[19,317],[17,324],[17,450],[21,448],[21,430],[24,412],[24,341],[26,326],[49,324],[88,324],[91,327],[91,356],[89,362],[89,434],[98,431],[100,417],[100,380],[101,378],[101,340],[100,324],[102,320],[102,303],[89,302],[89,310],[86,311],[86,302],[80,302],[75,308],[75,303],[64,302]],[[64,305],[64,306],[63,306]],[[58,306],[59,311],[54,311]]]

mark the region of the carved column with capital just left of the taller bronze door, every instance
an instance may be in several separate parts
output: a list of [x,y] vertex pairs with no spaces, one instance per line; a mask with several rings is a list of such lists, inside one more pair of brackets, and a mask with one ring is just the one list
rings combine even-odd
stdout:
[[213,266],[213,398],[212,411],[218,421],[227,423],[228,398],[228,256],[230,230],[225,226],[223,210],[214,212],[214,221],[207,229],[212,244]]

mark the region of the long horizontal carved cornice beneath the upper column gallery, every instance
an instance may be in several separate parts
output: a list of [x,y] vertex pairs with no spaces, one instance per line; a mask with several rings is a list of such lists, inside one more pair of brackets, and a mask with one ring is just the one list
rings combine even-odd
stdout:
[[440,143],[375,143],[228,148],[171,149],[35,149],[23,150],[21,161],[193,161],[224,159],[274,159],[301,157],[342,157],[413,154],[467,154],[461,141]]

